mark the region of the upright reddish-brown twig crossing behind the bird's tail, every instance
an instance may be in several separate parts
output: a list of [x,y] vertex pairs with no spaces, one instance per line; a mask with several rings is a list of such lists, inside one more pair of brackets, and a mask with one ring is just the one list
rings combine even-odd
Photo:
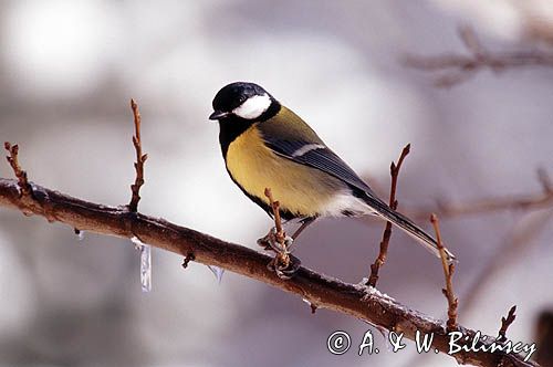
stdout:
[[[398,203],[396,200],[397,177],[399,176],[399,169],[401,168],[401,164],[404,162],[405,157],[407,157],[407,155],[409,154],[410,147],[411,145],[407,144],[399,155],[397,165],[392,161],[392,165],[389,166],[389,175],[392,176],[392,184],[389,189],[389,207],[394,210],[397,209]],[[386,222],[386,227],[384,229],[383,238],[380,241],[380,251],[378,252],[378,256],[376,258],[374,264],[371,265],[371,275],[368,276],[367,285],[376,286],[376,282],[378,282],[378,271],[386,263],[390,237],[392,222]]]

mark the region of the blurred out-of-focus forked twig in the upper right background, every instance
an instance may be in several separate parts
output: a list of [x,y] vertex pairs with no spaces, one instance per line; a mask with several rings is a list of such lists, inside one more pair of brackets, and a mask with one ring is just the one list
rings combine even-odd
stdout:
[[407,55],[404,62],[410,67],[422,71],[441,72],[442,75],[435,80],[436,86],[439,87],[450,87],[465,82],[484,69],[499,73],[509,67],[553,66],[553,53],[539,50],[491,52],[481,44],[470,27],[461,27],[459,36],[469,55],[453,53],[439,56]]

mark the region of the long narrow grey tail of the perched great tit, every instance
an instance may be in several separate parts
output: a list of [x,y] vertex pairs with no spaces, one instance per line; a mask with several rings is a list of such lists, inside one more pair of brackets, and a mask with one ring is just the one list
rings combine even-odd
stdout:
[[[438,250],[438,243],[436,242],[436,240],[431,235],[426,233],[420,227],[415,224],[409,218],[393,210],[382,200],[373,197],[369,193],[365,193],[362,199],[368,205],[373,213],[397,226],[407,234],[421,243],[428,251],[430,251],[438,258],[440,256],[440,251]],[[447,249],[445,250],[448,262],[453,262],[457,260],[451,252],[449,252]]]

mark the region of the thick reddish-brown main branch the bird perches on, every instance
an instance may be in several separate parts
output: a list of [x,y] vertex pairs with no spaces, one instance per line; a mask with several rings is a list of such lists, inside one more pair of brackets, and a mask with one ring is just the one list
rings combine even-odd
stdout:
[[[270,256],[246,247],[225,242],[163,219],[87,202],[33,184],[30,187],[31,195],[21,196],[17,180],[0,179],[0,207],[34,213],[91,232],[127,239],[137,235],[150,245],[182,256],[192,253],[197,262],[220,266],[298,294],[320,308],[333,310],[389,331],[405,333],[409,339],[415,338],[416,331],[434,333],[432,349],[437,348],[442,353],[449,350],[449,337],[444,322],[413,311],[363,284],[343,283],[303,266],[293,279],[282,280],[267,269]],[[474,331],[461,326],[459,329],[470,338],[476,335]],[[489,344],[493,340],[493,337],[488,337],[486,342],[479,343]],[[452,356],[459,363],[479,366],[532,366],[524,363],[522,356],[505,355],[499,350],[461,350]]]

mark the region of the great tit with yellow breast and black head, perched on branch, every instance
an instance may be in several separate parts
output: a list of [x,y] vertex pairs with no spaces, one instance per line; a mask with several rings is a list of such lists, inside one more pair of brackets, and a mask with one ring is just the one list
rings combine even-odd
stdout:
[[[272,217],[270,188],[283,219],[299,218],[298,234],[320,217],[376,214],[439,256],[436,240],[390,209],[296,114],[254,83],[237,82],[213,98],[209,119],[232,181]],[[448,260],[455,260],[447,252]]]

